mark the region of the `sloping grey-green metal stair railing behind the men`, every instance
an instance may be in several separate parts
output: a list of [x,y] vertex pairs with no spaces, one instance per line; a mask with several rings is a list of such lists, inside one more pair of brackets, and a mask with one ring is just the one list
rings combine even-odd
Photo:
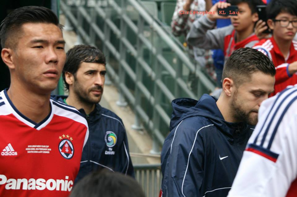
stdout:
[[[148,7],[137,0],[60,0],[60,10],[85,44],[106,56],[108,77],[120,92],[118,105],[134,110],[134,129],[143,125],[159,151],[169,132],[171,101],[199,98],[215,83],[187,56],[186,49]],[[191,90],[188,76],[196,76]]]

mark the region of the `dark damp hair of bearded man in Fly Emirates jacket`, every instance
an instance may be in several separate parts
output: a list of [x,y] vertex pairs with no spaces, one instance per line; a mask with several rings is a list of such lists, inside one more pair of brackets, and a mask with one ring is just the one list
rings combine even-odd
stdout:
[[90,45],[76,45],[67,51],[66,55],[67,58],[63,68],[62,77],[67,90],[69,90],[69,84],[66,82],[65,72],[70,72],[75,76],[82,62],[106,65],[104,54],[98,48]]

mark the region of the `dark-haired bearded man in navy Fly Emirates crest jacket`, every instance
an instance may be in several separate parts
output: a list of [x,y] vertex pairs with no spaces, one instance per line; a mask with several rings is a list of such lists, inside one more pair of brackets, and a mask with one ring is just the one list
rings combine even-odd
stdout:
[[88,173],[107,168],[134,177],[127,134],[122,120],[99,105],[105,81],[105,56],[93,46],[77,45],[67,52],[63,80],[69,96],[55,96],[74,106],[87,119],[89,138],[84,146],[75,183]]

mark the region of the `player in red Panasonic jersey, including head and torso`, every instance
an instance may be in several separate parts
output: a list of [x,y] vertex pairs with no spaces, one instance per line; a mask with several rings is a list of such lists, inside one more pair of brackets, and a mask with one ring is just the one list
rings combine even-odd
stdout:
[[0,196],[68,196],[88,138],[87,121],[50,99],[66,60],[58,18],[44,7],[12,11],[1,23],[1,57],[11,84],[0,92]]

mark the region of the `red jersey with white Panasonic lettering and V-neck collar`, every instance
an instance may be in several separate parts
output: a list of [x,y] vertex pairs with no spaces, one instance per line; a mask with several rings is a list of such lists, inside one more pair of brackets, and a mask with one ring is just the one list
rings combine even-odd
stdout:
[[88,124],[74,107],[52,99],[50,105],[35,123],[0,92],[0,196],[69,196]]

